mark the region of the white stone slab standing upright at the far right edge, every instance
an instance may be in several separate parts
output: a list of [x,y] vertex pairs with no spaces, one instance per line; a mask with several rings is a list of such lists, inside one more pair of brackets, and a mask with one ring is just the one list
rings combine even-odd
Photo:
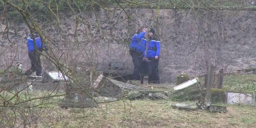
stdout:
[[228,104],[252,104],[253,100],[253,95],[249,93],[227,92]]

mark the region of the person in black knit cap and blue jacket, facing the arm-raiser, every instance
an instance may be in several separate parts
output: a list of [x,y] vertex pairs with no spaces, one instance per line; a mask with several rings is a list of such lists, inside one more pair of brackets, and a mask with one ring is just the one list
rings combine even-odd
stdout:
[[146,57],[150,60],[150,64],[152,67],[152,72],[148,77],[149,83],[159,84],[159,74],[158,74],[158,62],[160,55],[160,40],[156,36],[156,31],[154,28],[150,28],[148,32],[149,43],[148,43],[148,51]]

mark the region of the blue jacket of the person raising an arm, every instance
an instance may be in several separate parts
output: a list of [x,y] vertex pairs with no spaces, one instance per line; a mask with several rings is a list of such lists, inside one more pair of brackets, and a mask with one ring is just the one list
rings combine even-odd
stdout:
[[134,49],[136,52],[144,53],[146,50],[147,40],[144,39],[146,32],[142,31],[139,34],[134,34],[132,36],[132,42],[130,44],[130,49]]

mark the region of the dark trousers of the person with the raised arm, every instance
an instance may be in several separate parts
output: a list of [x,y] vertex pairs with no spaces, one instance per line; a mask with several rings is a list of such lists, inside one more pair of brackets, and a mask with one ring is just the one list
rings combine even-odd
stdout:
[[134,65],[132,78],[133,78],[133,80],[140,80],[140,78],[141,78],[140,71],[141,71],[141,64],[143,61],[143,56],[142,56],[143,53],[139,53],[134,50],[130,50],[130,54],[132,56],[132,63]]

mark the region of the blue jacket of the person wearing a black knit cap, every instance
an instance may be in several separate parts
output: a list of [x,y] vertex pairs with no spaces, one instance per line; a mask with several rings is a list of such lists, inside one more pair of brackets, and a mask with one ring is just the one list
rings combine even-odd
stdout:
[[160,41],[155,37],[152,38],[152,40],[149,40],[149,44],[148,44],[148,51],[147,51],[147,55],[146,57],[155,57],[158,56],[160,57]]

